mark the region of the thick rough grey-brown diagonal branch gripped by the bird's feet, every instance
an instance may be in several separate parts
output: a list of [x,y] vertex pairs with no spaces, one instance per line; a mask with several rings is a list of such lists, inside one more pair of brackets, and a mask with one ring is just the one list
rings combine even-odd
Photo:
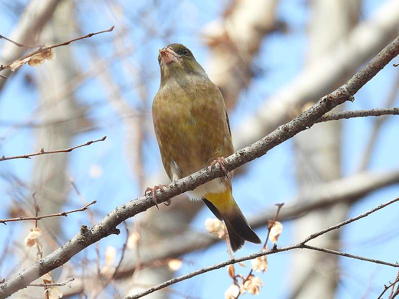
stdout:
[[[240,149],[226,158],[226,169],[231,171],[251,160],[264,155],[268,150],[278,146],[282,142],[292,138],[297,133],[307,130],[316,123],[324,114],[347,100],[353,101],[353,95],[371,80],[385,65],[399,54],[399,37],[385,47],[372,61],[356,73],[344,86],[320,99],[310,109],[297,116],[287,124],[280,126],[272,133]],[[164,202],[183,192],[193,190],[197,186],[224,175],[224,171],[216,166],[213,171],[205,167],[187,177],[179,179],[164,187],[165,191],[158,191],[158,202]],[[150,193],[150,192],[149,192]],[[148,194],[151,197],[150,194]],[[116,228],[122,221],[144,212],[154,206],[152,198],[145,196],[136,198],[122,206],[115,208],[103,220],[91,228],[82,225],[79,233],[53,251],[48,256],[38,260],[28,269],[16,274],[0,286],[0,298],[6,298],[26,287],[33,280],[43,274],[65,264],[74,255],[91,244],[111,234],[119,234]],[[220,266],[222,267],[222,266]]]

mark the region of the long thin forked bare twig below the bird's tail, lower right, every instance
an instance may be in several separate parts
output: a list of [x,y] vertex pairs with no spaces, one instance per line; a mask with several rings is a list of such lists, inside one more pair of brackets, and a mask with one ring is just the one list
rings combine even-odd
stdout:
[[387,266],[399,268],[399,264],[397,264],[397,263],[390,263],[390,262],[385,262],[385,261],[376,260],[376,259],[369,259],[369,258],[356,256],[356,255],[352,255],[352,254],[345,253],[345,252],[339,252],[339,251],[335,251],[335,250],[330,250],[330,249],[320,248],[320,247],[314,247],[314,246],[309,246],[309,245],[305,244],[306,242],[308,242],[310,240],[313,240],[316,237],[319,237],[319,236],[321,236],[321,235],[323,235],[323,234],[325,234],[325,233],[327,233],[329,231],[338,229],[338,228],[340,228],[340,227],[342,227],[342,226],[344,226],[346,224],[349,224],[349,223],[351,223],[353,221],[356,221],[356,220],[359,220],[361,218],[364,218],[364,217],[370,215],[371,213],[374,213],[374,212],[376,212],[376,211],[378,211],[378,210],[380,210],[380,209],[382,209],[382,208],[384,208],[384,207],[386,207],[386,206],[388,206],[390,204],[393,204],[393,203],[395,203],[397,201],[399,201],[399,197],[395,198],[393,200],[390,200],[390,201],[388,201],[388,202],[386,202],[384,204],[381,204],[378,207],[376,207],[374,209],[371,209],[370,211],[368,211],[368,212],[366,212],[364,214],[361,214],[361,215],[359,215],[357,217],[350,218],[347,221],[343,221],[343,222],[341,222],[339,224],[330,226],[330,227],[328,227],[326,229],[323,229],[323,230],[321,230],[321,231],[319,231],[317,233],[314,233],[314,234],[310,235],[309,237],[307,237],[306,239],[304,239],[303,241],[301,241],[301,242],[299,242],[297,244],[286,246],[286,247],[282,247],[282,248],[277,248],[276,246],[274,246],[272,249],[269,249],[267,251],[263,251],[262,250],[262,251],[260,251],[258,253],[251,254],[249,256],[244,256],[244,257],[241,257],[241,258],[237,258],[237,259],[233,259],[233,260],[229,260],[229,261],[224,261],[222,263],[218,263],[218,264],[215,264],[215,265],[212,265],[212,266],[209,266],[209,267],[205,267],[205,268],[202,268],[200,270],[194,271],[192,273],[189,273],[189,274],[186,274],[186,275],[171,279],[169,281],[163,282],[163,283],[161,283],[161,284],[159,284],[157,286],[154,286],[154,287],[152,287],[152,288],[150,288],[150,289],[148,289],[148,290],[146,290],[144,292],[138,293],[138,294],[136,294],[134,296],[131,296],[131,297],[126,297],[126,299],[138,299],[138,298],[141,298],[143,296],[147,296],[148,294],[151,294],[151,293],[153,293],[155,291],[158,291],[158,290],[161,290],[163,288],[169,287],[170,285],[173,285],[173,284],[176,284],[178,282],[193,278],[195,276],[198,276],[200,274],[203,274],[203,273],[206,273],[206,272],[209,272],[209,271],[212,271],[212,270],[223,268],[223,267],[225,267],[227,265],[231,265],[231,264],[235,264],[235,263],[239,263],[239,262],[243,262],[243,261],[247,261],[247,260],[252,260],[252,259],[255,259],[257,257],[270,255],[270,254],[275,254],[275,253],[278,253],[278,252],[284,252],[284,251],[293,250],[293,249],[302,249],[303,248],[303,249],[322,251],[322,252],[326,252],[326,253],[329,253],[329,254],[340,255],[340,256],[349,257],[349,258],[353,258],[353,259],[357,259],[357,260],[362,260],[362,261],[367,261],[367,262],[372,262],[372,263],[376,263],[376,264],[387,265]]

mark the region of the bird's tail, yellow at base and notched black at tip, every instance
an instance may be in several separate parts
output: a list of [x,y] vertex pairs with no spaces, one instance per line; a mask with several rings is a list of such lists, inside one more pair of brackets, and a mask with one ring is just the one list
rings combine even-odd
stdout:
[[[207,202],[205,200],[207,200]],[[208,207],[210,203],[221,214],[221,218],[224,220],[224,224],[227,228],[231,249],[234,252],[244,245],[245,240],[256,244],[261,243],[261,240],[251,229],[240,208],[236,204],[231,194],[231,189],[227,188],[221,193],[206,194],[205,200]],[[210,210],[213,212],[213,209]],[[216,217],[218,217],[218,215],[216,215]]]

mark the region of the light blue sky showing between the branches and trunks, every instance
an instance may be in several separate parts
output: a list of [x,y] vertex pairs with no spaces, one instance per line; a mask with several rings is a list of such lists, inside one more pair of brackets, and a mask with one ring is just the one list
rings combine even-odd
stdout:
[[[203,66],[206,65],[208,50],[200,39],[200,30],[203,26],[215,19],[223,10],[226,1],[160,1],[161,9],[151,11],[148,21],[153,22],[154,26],[172,26],[173,31],[166,37],[146,38],[146,31],[140,25],[132,26],[129,33],[135,46],[135,53],[130,58],[132,63],[144,66],[146,74],[150,80],[146,82],[149,90],[149,98],[157,92],[159,85],[159,70],[157,55],[158,49],[170,42],[181,42],[186,44],[195,53],[197,60]],[[365,0],[363,5],[362,17],[370,16],[379,5],[385,1]],[[82,1],[77,10],[77,21],[81,25],[82,32],[93,32],[108,28],[110,25],[118,24],[110,17],[109,8],[105,2],[97,6],[89,1]],[[127,1],[126,1],[127,3]],[[136,1],[134,4],[125,5],[132,15],[140,11],[145,6],[146,1]],[[168,5],[174,5],[174,9],[168,9],[170,13],[164,11]],[[166,7],[166,8],[165,8]],[[89,10],[88,10],[89,9]],[[90,13],[86,13],[90,11]],[[307,39],[306,25],[309,11],[306,1],[282,0],[278,9],[278,14],[288,22],[290,31],[288,34],[272,34],[261,47],[261,51],[256,58],[257,67],[262,72],[254,78],[251,87],[240,95],[239,102],[230,113],[230,123],[232,131],[236,128],[240,120],[245,116],[251,115],[257,107],[263,103],[268,95],[273,94],[281,86],[290,82],[292,78],[301,70],[306,54]],[[104,17],[105,15],[105,17]],[[178,21],[177,21],[178,20]],[[10,33],[16,18],[11,15],[3,15],[0,18],[2,31],[1,34],[7,36]],[[134,19],[130,20],[133,25]],[[73,36],[71,36],[72,38]],[[82,43],[73,45],[76,63],[82,69],[85,68],[90,52],[87,43],[98,43],[99,51],[103,57],[112,55],[113,48],[107,43],[109,36],[102,35],[86,40]],[[4,43],[3,40],[0,43]],[[1,61],[4,63],[4,61]],[[46,62],[50,63],[50,62]],[[132,80],[126,78],[120,63],[111,66],[112,73],[124,89],[124,96],[129,100],[129,104],[138,104],[137,92],[129,88]],[[347,109],[367,109],[382,107],[387,94],[393,83],[393,78],[398,70],[386,67],[375,78],[372,79],[356,95],[356,101],[348,104]],[[37,75],[37,71],[27,66],[23,67],[14,77],[10,78],[5,89],[0,94],[0,121],[12,123],[22,123],[34,111],[39,94],[38,92],[24,83],[24,75]],[[99,81],[89,80],[78,89],[77,98],[83,104],[100,103],[95,105],[90,116],[97,120],[99,128],[96,131],[79,135],[73,144],[85,143],[88,140],[98,139],[107,135],[107,140],[87,148],[78,149],[70,155],[70,165],[68,174],[75,178],[82,194],[87,200],[97,200],[96,210],[104,215],[117,205],[120,205],[143,193],[133,180],[131,170],[126,163],[126,152],[121,146],[123,144],[126,131],[122,127],[122,122],[118,116],[110,109],[104,93],[99,92]],[[151,101],[147,103],[146,110],[150,111]],[[398,103],[396,105],[398,106]],[[148,115],[150,117],[150,114]],[[378,146],[373,154],[370,169],[387,170],[397,169],[399,139],[398,120],[395,117],[385,124],[382,129]],[[344,140],[343,140],[343,171],[345,175],[353,174],[359,163],[360,153],[368,139],[371,118],[352,119],[344,121]],[[121,129],[122,128],[122,129]],[[32,152],[34,149],[34,139],[31,129],[11,130],[7,126],[0,126],[0,154],[14,155]],[[162,167],[158,148],[154,139],[146,142],[146,169],[147,174],[159,172]],[[40,157],[37,157],[40,158]],[[245,175],[236,177],[233,182],[234,197],[241,206],[245,215],[258,212],[260,209],[270,208],[276,202],[289,202],[296,193],[295,169],[294,169],[293,145],[288,141],[279,147],[271,150],[265,156],[256,159],[248,166]],[[89,169],[93,165],[98,165],[103,169],[103,175],[98,178],[90,177]],[[33,166],[33,159],[10,160],[1,162],[0,175],[14,174],[29,183]],[[267,192],[253,192],[262,186]],[[9,205],[10,186],[8,182],[0,179],[0,192],[5,206]],[[398,196],[398,186],[384,188],[366,196],[362,201],[356,203],[350,216],[365,212],[380,203],[386,202]],[[27,190],[25,190],[27,192]],[[248,195],[250,192],[250,196]],[[267,198],[264,194],[267,194]],[[80,206],[79,199],[75,194],[69,195],[68,208]],[[7,209],[1,209],[0,218],[7,216]],[[55,211],[54,211],[55,212]],[[391,206],[361,221],[355,222],[343,229],[343,250],[353,254],[367,256],[376,259],[395,262],[398,260],[397,250],[399,246],[399,230],[397,229],[398,205]],[[210,212],[203,209],[193,222],[193,227],[204,231],[204,220],[210,217]],[[69,222],[71,221],[71,222]],[[68,217],[68,225],[65,227],[66,237],[73,236],[81,223],[88,223],[87,215],[76,213]],[[285,222],[284,231],[279,239],[279,246],[289,245],[292,242],[292,230],[294,222]],[[0,248],[4,244],[8,231],[13,227],[18,230],[18,224],[0,226]],[[266,229],[260,229],[258,233],[266,235]],[[377,239],[378,236],[389,233],[390,236]],[[111,236],[100,242],[103,250],[107,245],[117,248],[122,246],[123,237]],[[93,254],[94,247],[87,249],[89,255]],[[259,246],[246,244],[236,256],[243,256],[258,251]],[[222,260],[228,256],[225,253],[225,244],[222,242],[203,252],[192,253],[185,260],[192,263],[184,263],[184,266],[177,275],[194,271],[204,266],[208,266]],[[289,289],[287,284],[293,271],[290,267],[291,254],[282,253],[268,258],[269,270],[261,275],[264,288],[261,290],[261,298],[287,298]],[[386,266],[377,266],[367,262],[342,258],[342,278],[339,284],[337,298],[360,298],[366,292],[369,280],[371,280],[371,290],[368,298],[375,298],[383,289],[383,285],[395,276],[395,269]],[[239,267],[238,267],[239,269]],[[247,269],[242,269],[242,274],[247,273]],[[1,269],[0,276],[7,273],[6,269]],[[375,273],[378,273],[376,275]],[[214,282],[217,281],[217,284]],[[174,289],[187,295],[199,297],[201,299],[222,298],[224,291],[230,285],[231,279],[226,274],[226,269],[216,270],[206,273],[194,279],[179,283],[173,286]],[[206,288],[204,287],[206,286]],[[242,296],[249,298],[250,295]],[[178,295],[171,295],[171,298],[180,298]]]

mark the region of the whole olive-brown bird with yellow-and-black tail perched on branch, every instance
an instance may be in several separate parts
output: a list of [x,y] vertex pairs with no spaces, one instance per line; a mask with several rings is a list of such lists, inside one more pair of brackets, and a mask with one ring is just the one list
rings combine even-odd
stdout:
[[[219,89],[184,45],[173,43],[159,51],[161,83],[152,106],[155,134],[162,162],[171,180],[185,177],[209,164],[225,170],[224,156],[234,152],[230,125]],[[233,251],[245,240],[260,243],[231,194],[233,171],[186,195],[203,200],[224,220]],[[153,191],[162,185],[147,188]],[[155,198],[156,200],[156,198]]]

